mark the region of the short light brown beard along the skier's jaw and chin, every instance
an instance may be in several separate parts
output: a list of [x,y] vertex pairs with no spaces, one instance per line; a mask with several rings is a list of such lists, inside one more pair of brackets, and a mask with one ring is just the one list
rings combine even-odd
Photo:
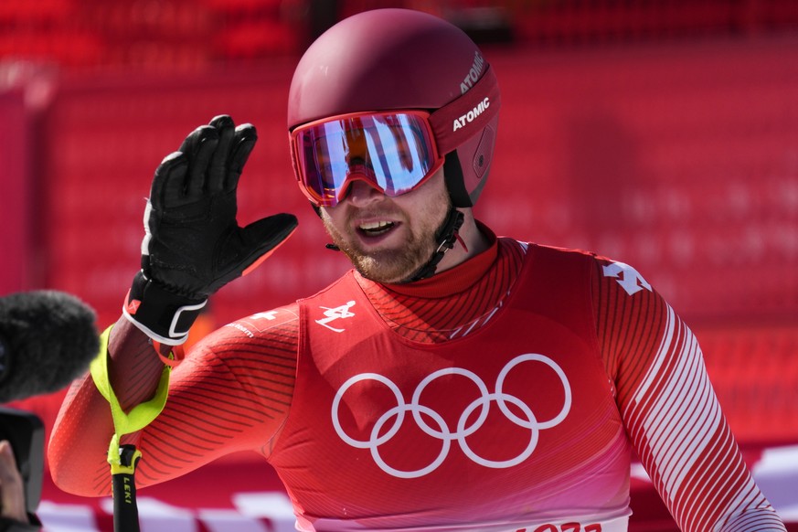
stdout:
[[[363,277],[382,283],[405,282],[431,260],[440,245],[440,242],[435,240],[435,235],[446,223],[449,209],[452,207],[448,193],[445,193],[444,198],[437,204],[442,207],[440,219],[410,233],[410,238],[400,249],[366,252],[358,246],[350,245],[324,215],[322,221],[335,246],[344,252],[356,271]],[[352,239],[352,241],[356,240]]]

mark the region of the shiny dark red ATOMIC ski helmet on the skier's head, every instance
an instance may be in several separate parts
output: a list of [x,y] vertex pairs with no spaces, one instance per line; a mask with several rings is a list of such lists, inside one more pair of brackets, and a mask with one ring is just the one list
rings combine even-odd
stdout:
[[346,18],[307,49],[291,83],[288,128],[350,113],[430,112],[452,203],[472,207],[499,107],[495,75],[463,30],[419,11],[378,9]]

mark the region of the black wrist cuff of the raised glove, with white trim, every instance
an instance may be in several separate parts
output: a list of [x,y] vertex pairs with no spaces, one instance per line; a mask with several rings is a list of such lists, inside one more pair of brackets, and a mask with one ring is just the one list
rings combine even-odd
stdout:
[[186,342],[188,330],[207,299],[191,299],[170,292],[139,271],[127,293],[122,314],[145,335],[166,346]]

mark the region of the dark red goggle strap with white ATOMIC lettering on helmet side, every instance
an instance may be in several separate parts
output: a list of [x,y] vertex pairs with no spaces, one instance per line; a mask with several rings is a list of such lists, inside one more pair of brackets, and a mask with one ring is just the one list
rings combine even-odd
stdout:
[[501,107],[499,85],[488,66],[482,78],[463,96],[430,115],[429,121],[440,156],[452,152],[474,133],[480,132]]

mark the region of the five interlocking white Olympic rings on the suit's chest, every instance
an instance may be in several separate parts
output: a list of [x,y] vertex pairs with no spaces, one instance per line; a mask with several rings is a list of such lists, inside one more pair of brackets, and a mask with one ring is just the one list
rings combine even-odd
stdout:
[[[562,387],[565,390],[565,399],[563,401],[562,409],[559,410],[559,413],[550,420],[537,420],[535,413],[531,408],[529,408],[527,403],[516,398],[516,396],[505,393],[503,389],[505,386],[505,378],[507,378],[507,375],[510,373],[510,371],[524,362],[539,362],[545,364],[554,370],[559,377],[560,382],[562,383]],[[463,410],[463,413],[460,415],[460,418],[457,421],[457,427],[454,431],[452,431],[446,421],[443,420],[441,414],[420,403],[421,393],[424,391],[424,388],[427,388],[427,386],[429,386],[430,383],[436,378],[441,378],[446,375],[458,375],[467,378],[471,380],[473,385],[479,390],[479,397],[474,399],[473,402]],[[374,423],[374,427],[371,429],[369,439],[367,441],[362,441],[356,440],[346,434],[346,431],[344,431],[344,429],[341,427],[341,421],[338,418],[338,410],[346,391],[356,383],[366,380],[377,381],[378,383],[385,385],[385,387],[393,393],[397,406],[388,409],[384,414],[382,414]],[[466,442],[466,439],[469,436],[482,428],[484,421],[487,419],[492,402],[496,403],[499,410],[502,412],[502,414],[504,414],[507,420],[510,420],[512,423],[516,424],[516,426],[529,431],[529,442],[527,443],[526,449],[524,449],[524,451],[520,452],[514,458],[502,461],[488,460],[482,456],[479,456],[476,452],[473,452],[473,450],[469,447],[468,442]],[[518,416],[515,412],[510,410],[507,406],[508,404],[511,404],[515,406],[517,410],[520,410],[522,416]],[[333,426],[335,427],[335,432],[338,434],[341,440],[352,447],[355,447],[356,449],[368,449],[371,452],[371,457],[374,459],[374,462],[378,464],[378,467],[382,469],[382,471],[399,478],[418,478],[435,471],[435,469],[437,469],[443,463],[443,461],[446,460],[449,450],[452,447],[452,442],[457,442],[460,445],[463,453],[470,458],[473,463],[483,465],[484,467],[505,469],[522,463],[527,460],[532,452],[535,451],[540,431],[550,429],[558,425],[562,420],[565,420],[569,413],[570,406],[571,389],[568,378],[565,376],[565,372],[562,370],[562,368],[559,367],[556,362],[548,358],[548,356],[527,354],[516,356],[507,362],[505,367],[503,367],[502,371],[499,373],[499,376],[496,378],[495,391],[493,392],[489,391],[484,381],[472,371],[463,369],[461,367],[447,367],[445,369],[435,371],[427,378],[424,378],[413,391],[413,396],[412,399],[410,399],[410,403],[405,401],[399,387],[389,378],[379,375],[378,373],[361,373],[355,377],[347,379],[341,388],[339,388],[335,393],[335,399],[333,400],[332,408],[332,420]],[[472,423],[468,424],[468,420],[472,417],[473,412],[478,409],[479,412],[476,416],[476,419],[473,420]],[[432,438],[440,440],[442,445],[441,452],[434,460],[432,460],[429,465],[415,471],[401,471],[391,467],[385,462],[385,460],[383,460],[379,453],[379,447],[380,445],[388,442],[397,434],[397,432],[399,432],[399,429],[401,428],[402,423],[409,412],[412,415],[412,420],[415,421],[420,430]],[[428,419],[432,420],[433,425],[435,426],[431,426],[429,423],[427,423],[421,414],[426,415]],[[389,426],[387,431],[383,431],[383,428],[386,427],[391,419],[393,419],[393,423]]]

